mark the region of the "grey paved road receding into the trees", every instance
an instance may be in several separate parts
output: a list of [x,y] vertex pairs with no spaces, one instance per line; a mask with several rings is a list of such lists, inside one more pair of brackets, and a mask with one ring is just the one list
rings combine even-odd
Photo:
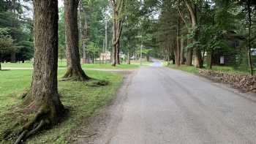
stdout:
[[127,83],[106,128],[86,143],[256,143],[253,96],[164,67],[140,68]]

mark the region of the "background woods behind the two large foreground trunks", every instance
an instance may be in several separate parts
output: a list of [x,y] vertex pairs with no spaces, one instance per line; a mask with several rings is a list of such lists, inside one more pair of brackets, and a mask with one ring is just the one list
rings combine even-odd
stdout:
[[[29,1],[1,1],[1,62],[33,58],[31,13]],[[80,1],[78,27],[83,63],[94,63],[109,52],[107,62],[129,64],[131,57],[143,53],[173,59],[177,65],[211,68],[219,53],[225,53],[236,59],[227,57],[228,65],[253,74],[255,1]],[[59,59],[66,58],[65,39],[61,5]]]

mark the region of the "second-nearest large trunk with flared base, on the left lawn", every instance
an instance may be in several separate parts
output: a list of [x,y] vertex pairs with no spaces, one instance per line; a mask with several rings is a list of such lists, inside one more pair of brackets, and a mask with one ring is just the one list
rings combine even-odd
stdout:
[[67,47],[67,72],[64,78],[89,80],[80,65],[78,48],[78,3],[79,0],[64,0],[65,32]]

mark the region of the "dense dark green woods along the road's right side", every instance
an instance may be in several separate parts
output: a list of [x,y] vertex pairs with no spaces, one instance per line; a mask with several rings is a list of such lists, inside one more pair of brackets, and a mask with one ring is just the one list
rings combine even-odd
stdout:
[[170,37],[159,36],[159,48],[165,51],[167,61],[174,56],[176,65],[185,62],[208,69],[213,64],[227,65],[247,69],[253,75],[254,1],[161,1],[159,4],[159,34],[170,34]]

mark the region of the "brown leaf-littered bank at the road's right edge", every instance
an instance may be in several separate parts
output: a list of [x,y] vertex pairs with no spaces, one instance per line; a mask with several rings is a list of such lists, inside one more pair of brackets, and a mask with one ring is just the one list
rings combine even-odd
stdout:
[[200,69],[199,75],[221,83],[227,83],[244,92],[256,93],[256,76],[230,74],[227,72]]

